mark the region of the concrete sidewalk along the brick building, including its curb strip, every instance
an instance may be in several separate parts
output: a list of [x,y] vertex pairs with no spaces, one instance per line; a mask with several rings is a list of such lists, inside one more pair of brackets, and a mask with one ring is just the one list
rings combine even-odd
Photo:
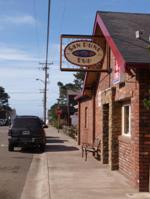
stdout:
[[21,199],[150,199],[138,193],[118,171],[81,157],[80,147],[49,127],[43,154],[34,154]]

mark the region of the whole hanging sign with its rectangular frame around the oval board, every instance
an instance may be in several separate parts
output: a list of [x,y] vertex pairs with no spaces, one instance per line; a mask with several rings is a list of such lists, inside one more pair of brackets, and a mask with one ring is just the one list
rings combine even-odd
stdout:
[[106,42],[100,35],[60,36],[60,70],[68,72],[105,72],[102,64],[106,54]]

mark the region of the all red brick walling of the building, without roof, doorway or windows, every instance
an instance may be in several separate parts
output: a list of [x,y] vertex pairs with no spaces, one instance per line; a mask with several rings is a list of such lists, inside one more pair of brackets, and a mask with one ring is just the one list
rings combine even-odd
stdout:
[[[111,53],[111,66],[114,57]],[[106,68],[107,60],[104,60]],[[103,137],[103,105],[109,104],[109,164],[111,169],[119,168],[130,182],[141,191],[148,191],[150,169],[150,110],[143,105],[144,96],[150,88],[150,70],[140,69],[132,77],[125,72],[125,84],[112,84],[112,74],[101,73],[95,95],[81,102],[80,139],[93,142],[93,137]],[[115,93],[112,94],[112,87]],[[121,135],[121,106],[131,103],[131,137]],[[85,128],[85,108],[88,107],[88,127]],[[119,112],[119,114],[118,114]],[[119,115],[117,117],[117,115]],[[95,120],[95,122],[93,121]],[[110,135],[111,134],[111,135]],[[104,147],[104,145],[103,145]],[[102,150],[103,152],[103,150]],[[103,154],[102,154],[103,156]]]

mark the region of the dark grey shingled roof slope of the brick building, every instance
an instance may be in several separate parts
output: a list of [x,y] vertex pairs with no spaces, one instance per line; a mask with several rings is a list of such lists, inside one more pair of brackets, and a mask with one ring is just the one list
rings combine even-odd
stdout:
[[150,14],[103,12],[97,14],[103,20],[110,36],[127,63],[150,63],[148,43],[136,39],[135,31],[143,30],[142,38],[150,35]]

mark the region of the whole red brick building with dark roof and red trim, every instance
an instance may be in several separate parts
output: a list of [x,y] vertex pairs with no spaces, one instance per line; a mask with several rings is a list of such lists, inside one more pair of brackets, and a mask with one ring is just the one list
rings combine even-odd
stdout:
[[[104,50],[101,69],[87,72],[79,102],[78,142],[101,138],[101,161],[139,191],[150,191],[150,14],[97,12],[93,35]],[[142,31],[137,39],[135,32]]]

